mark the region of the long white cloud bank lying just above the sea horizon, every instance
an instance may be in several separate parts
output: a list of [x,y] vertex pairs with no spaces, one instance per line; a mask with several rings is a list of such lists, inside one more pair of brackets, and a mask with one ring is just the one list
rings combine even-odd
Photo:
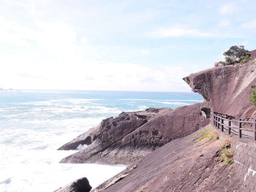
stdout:
[[[132,63],[52,61],[42,53],[3,55],[2,87],[83,90],[188,91],[182,80],[189,69],[179,66],[145,67]],[[40,58],[40,59],[38,59]],[[72,64],[70,64],[72,62]],[[11,74],[11,75],[10,75]]]

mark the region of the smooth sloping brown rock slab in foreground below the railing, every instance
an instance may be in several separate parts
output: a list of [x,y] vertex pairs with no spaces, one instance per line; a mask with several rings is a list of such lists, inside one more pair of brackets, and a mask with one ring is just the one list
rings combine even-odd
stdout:
[[[93,189],[94,192],[235,191],[242,181],[233,164],[220,158],[220,140],[200,131],[171,141]],[[122,180],[119,178],[122,177]]]

